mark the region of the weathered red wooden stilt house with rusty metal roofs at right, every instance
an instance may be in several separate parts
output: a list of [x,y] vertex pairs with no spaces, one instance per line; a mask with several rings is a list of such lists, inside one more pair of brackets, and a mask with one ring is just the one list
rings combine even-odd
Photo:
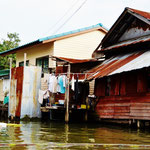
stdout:
[[150,13],[125,8],[93,57],[100,119],[150,120]]

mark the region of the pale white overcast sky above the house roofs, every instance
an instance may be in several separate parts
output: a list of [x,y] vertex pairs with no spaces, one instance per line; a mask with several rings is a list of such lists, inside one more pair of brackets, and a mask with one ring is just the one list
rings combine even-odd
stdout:
[[150,12],[150,0],[0,0],[0,40],[18,33],[20,45],[102,23],[110,29],[125,7]]

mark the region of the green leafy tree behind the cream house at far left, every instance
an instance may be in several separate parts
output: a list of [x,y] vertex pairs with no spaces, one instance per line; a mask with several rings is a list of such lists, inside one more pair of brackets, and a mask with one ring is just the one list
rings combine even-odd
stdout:
[[[8,33],[7,40],[0,41],[0,52],[10,50],[19,46],[20,39],[17,33]],[[0,69],[9,69],[9,58],[12,58],[12,67],[16,66],[16,54],[10,54],[5,57],[0,56]]]

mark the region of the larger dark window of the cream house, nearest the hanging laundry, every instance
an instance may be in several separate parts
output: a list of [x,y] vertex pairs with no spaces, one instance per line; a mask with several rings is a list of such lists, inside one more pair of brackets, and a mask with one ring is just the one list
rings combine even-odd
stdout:
[[36,59],[36,66],[42,67],[42,72],[48,73],[49,56]]

